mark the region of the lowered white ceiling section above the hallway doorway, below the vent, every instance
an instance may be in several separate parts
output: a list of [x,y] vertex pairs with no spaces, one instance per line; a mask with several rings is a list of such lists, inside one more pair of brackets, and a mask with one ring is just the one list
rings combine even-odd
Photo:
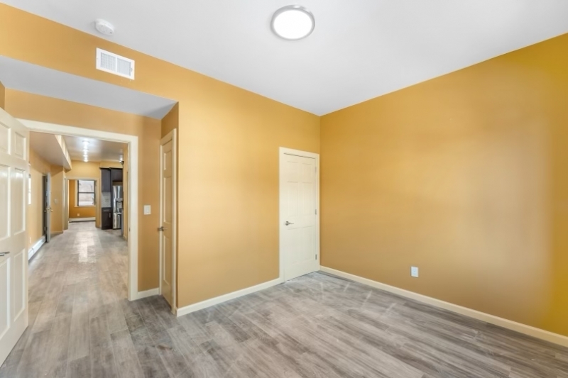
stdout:
[[42,96],[161,119],[176,101],[0,56],[0,82]]

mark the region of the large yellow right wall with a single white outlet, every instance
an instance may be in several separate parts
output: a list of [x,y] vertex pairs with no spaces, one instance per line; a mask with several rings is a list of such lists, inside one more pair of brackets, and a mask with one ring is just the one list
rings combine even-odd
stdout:
[[568,335],[566,67],[562,35],[323,116],[322,265]]

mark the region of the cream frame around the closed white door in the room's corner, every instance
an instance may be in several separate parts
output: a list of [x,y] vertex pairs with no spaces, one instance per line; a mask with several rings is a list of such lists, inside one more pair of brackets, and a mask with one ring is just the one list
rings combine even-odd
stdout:
[[320,270],[320,260],[321,260],[321,253],[320,253],[320,154],[315,152],[307,152],[307,151],[300,151],[300,150],[293,150],[292,148],[285,148],[280,147],[278,150],[278,255],[279,255],[279,264],[280,264],[280,279],[284,280],[284,262],[285,262],[285,255],[284,255],[284,248],[283,248],[283,230],[284,230],[284,209],[283,209],[283,200],[282,194],[284,193],[284,180],[282,179],[284,173],[284,155],[295,155],[301,157],[312,157],[315,159],[315,210],[316,210],[316,217],[315,217],[315,251],[317,255],[317,270]]

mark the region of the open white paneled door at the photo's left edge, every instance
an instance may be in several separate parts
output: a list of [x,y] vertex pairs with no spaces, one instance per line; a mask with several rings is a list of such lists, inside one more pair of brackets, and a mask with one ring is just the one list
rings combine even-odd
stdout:
[[28,326],[28,135],[0,109],[0,365]]

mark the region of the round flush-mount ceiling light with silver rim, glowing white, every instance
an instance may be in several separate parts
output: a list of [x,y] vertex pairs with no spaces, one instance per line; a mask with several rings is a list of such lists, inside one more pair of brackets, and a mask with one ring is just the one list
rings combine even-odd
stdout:
[[301,40],[314,31],[315,18],[312,12],[300,5],[278,9],[272,16],[271,28],[275,35],[285,40]]

